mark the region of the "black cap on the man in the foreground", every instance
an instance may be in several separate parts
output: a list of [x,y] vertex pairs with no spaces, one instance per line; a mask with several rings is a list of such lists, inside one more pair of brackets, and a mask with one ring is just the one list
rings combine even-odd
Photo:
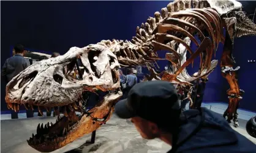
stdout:
[[170,82],[154,80],[134,85],[127,99],[116,103],[119,118],[139,116],[162,126],[178,119],[181,113],[176,88]]

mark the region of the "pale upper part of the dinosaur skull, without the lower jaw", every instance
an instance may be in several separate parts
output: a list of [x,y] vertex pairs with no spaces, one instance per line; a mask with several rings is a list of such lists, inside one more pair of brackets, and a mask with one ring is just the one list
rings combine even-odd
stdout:
[[[85,67],[83,80],[70,80],[64,68],[78,56]],[[45,107],[71,104],[85,90],[119,88],[118,68],[116,55],[104,46],[73,47],[66,54],[31,65],[14,77],[7,84],[6,101]]]

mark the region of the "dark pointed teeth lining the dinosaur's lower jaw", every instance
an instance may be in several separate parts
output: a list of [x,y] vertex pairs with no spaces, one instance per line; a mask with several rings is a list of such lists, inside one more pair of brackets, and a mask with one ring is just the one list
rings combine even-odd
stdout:
[[[58,119],[56,119],[56,123],[58,123],[59,121],[61,121],[62,117],[58,116]],[[69,118],[67,118],[69,121]],[[56,124],[55,123],[55,124]],[[32,138],[30,137],[29,140],[27,140],[27,142],[29,144],[37,144],[37,143],[41,143],[43,140],[47,139],[48,141],[55,141],[55,143],[59,143],[59,141],[62,140],[62,138],[64,137],[58,137],[58,135],[54,135],[53,137],[50,137],[49,135],[47,135],[48,130],[50,130],[50,127],[53,127],[53,123],[47,123],[45,124],[45,126],[43,127],[43,123],[40,126],[40,123],[37,126],[37,134],[34,135],[34,133],[32,133]],[[69,132],[69,130],[72,129],[70,128],[69,124],[67,124],[66,127],[64,127],[64,129],[62,130],[62,135],[67,135],[67,132]],[[40,138],[36,138],[37,135],[40,135]]]

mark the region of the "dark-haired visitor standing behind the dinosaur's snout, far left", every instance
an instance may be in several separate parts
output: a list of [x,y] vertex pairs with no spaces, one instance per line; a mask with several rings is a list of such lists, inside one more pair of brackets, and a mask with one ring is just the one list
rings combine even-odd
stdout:
[[[16,44],[13,48],[15,54],[6,60],[4,66],[2,66],[1,76],[5,82],[10,82],[13,77],[17,76],[21,71],[30,66],[29,60],[25,59],[24,46],[22,44]],[[26,110],[27,118],[33,117],[32,110]],[[12,111],[12,119],[18,118],[18,113]]]

